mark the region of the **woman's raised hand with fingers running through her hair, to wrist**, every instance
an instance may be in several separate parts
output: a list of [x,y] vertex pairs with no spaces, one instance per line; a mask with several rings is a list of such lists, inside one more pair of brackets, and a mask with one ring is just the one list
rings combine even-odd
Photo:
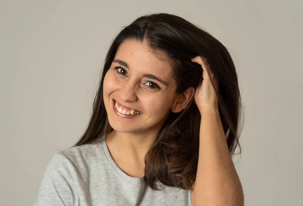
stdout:
[[214,86],[212,85],[210,76],[207,72],[207,68],[210,68],[206,67],[206,65],[208,65],[207,60],[205,58],[197,56],[195,58],[192,58],[191,61],[198,63],[203,69],[203,81],[196,88],[194,94],[194,100],[200,113],[209,110],[218,110],[218,96],[216,94],[216,90],[218,90],[218,81],[215,79],[214,73],[210,69],[209,72],[215,83],[215,90]]

